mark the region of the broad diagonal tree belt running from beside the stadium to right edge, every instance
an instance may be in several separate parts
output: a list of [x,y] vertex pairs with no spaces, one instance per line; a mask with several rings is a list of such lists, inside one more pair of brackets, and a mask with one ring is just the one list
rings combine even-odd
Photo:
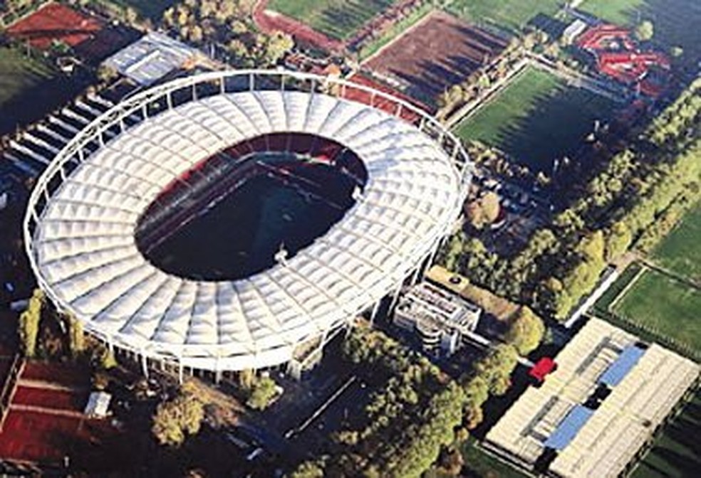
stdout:
[[700,88],[695,80],[519,253],[499,256],[461,232],[443,251],[445,267],[543,316],[567,317],[608,261],[651,248],[701,198]]

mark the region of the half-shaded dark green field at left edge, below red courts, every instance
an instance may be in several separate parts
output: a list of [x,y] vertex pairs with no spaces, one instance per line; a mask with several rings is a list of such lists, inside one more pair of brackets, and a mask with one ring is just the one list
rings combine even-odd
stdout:
[[58,72],[14,48],[0,48],[0,134],[43,116],[56,105]]

